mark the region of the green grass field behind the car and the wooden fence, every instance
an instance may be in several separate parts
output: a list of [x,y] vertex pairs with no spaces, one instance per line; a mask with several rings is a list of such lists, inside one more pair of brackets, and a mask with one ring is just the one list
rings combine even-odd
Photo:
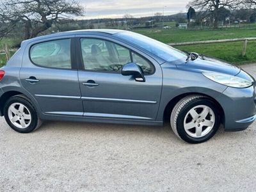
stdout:
[[[173,25],[172,23],[164,23]],[[256,37],[256,28],[231,28],[231,29],[218,29],[218,30],[186,30],[186,29],[143,29],[134,30],[137,33],[155,38],[166,44],[174,42],[191,42],[201,40],[220,40],[227,38],[243,38],[243,37]],[[0,49],[4,44],[12,46],[17,44],[19,40],[4,38],[0,41]],[[243,42],[221,43],[221,44],[208,44],[208,45],[186,45],[177,46],[177,49],[191,52],[198,52],[205,56],[213,56],[226,60],[236,65],[244,63],[256,63],[256,41],[248,42],[246,56],[241,56],[243,49]],[[5,56],[0,55],[0,66],[5,63]]]

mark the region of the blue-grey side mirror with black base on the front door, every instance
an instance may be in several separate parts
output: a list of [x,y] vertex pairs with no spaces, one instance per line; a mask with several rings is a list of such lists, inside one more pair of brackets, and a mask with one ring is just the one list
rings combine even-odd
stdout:
[[127,63],[122,68],[123,76],[134,76],[135,81],[145,82],[141,68],[136,63]]

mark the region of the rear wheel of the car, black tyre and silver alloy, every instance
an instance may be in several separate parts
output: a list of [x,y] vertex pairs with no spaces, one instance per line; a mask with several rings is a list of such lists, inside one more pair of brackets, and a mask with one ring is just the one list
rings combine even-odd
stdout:
[[4,106],[4,118],[15,131],[28,133],[42,124],[32,102],[24,95],[11,97]]

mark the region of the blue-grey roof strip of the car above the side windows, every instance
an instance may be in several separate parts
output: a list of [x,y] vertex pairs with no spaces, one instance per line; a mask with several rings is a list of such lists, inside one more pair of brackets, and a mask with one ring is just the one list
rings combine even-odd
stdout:
[[115,33],[122,32],[124,30],[120,29],[83,29],[83,30],[75,30],[75,31],[64,31],[64,32],[58,32],[58,33],[52,33],[51,35],[43,35],[43,36],[38,36],[35,38],[31,38],[28,40],[24,40],[22,44],[25,42],[31,42],[35,40],[43,40],[45,38],[52,38],[52,37],[58,37],[58,36],[64,36],[64,35],[85,35],[85,34],[92,34],[92,33],[102,33],[102,34],[108,34],[108,35],[113,35]]

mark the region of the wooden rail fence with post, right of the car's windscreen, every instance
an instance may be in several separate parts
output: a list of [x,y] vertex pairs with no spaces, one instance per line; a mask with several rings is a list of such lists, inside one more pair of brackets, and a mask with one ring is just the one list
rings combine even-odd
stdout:
[[256,37],[231,38],[231,39],[222,39],[222,40],[207,40],[207,41],[198,41],[198,42],[172,43],[172,44],[168,44],[168,45],[178,46],[178,45],[200,45],[200,44],[220,44],[220,43],[228,43],[228,42],[244,42],[242,56],[245,56],[248,41],[255,41],[255,40],[256,40]]

